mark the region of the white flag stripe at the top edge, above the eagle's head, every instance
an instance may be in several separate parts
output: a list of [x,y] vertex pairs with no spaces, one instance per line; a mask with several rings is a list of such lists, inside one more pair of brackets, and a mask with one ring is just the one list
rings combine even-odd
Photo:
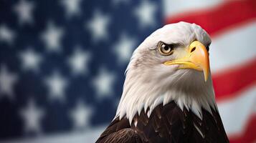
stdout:
[[196,9],[209,9],[209,7],[222,4],[223,0],[163,0],[164,15],[174,16],[185,11]]

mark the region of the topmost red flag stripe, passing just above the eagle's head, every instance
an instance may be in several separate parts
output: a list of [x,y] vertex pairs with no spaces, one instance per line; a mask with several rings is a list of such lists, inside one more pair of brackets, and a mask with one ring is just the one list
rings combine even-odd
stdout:
[[211,36],[214,36],[230,26],[237,26],[237,24],[255,19],[255,9],[255,0],[227,1],[224,4],[214,6],[212,9],[200,9],[169,16],[166,24],[187,21],[199,24]]

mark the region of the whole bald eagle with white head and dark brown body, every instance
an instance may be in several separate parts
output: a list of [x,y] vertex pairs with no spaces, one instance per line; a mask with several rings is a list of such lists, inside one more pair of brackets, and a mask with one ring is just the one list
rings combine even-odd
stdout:
[[133,52],[113,121],[97,143],[229,142],[214,99],[211,39],[179,22],[154,31]]

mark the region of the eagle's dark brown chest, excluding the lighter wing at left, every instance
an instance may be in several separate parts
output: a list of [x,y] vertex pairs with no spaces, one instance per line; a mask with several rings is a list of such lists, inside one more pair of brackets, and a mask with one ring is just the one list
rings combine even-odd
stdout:
[[216,112],[212,116],[204,110],[204,118],[199,119],[171,102],[158,105],[149,117],[147,113],[136,114],[131,124],[143,142],[228,142]]

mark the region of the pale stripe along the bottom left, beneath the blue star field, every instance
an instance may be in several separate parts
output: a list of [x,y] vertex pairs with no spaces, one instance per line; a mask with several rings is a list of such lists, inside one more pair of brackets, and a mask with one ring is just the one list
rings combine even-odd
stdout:
[[84,132],[70,132],[58,135],[48,135],[33,139],[12,139],[10,141],[0,141],[0,143],[93,143],[100,137],[106,126],[87,129]]

